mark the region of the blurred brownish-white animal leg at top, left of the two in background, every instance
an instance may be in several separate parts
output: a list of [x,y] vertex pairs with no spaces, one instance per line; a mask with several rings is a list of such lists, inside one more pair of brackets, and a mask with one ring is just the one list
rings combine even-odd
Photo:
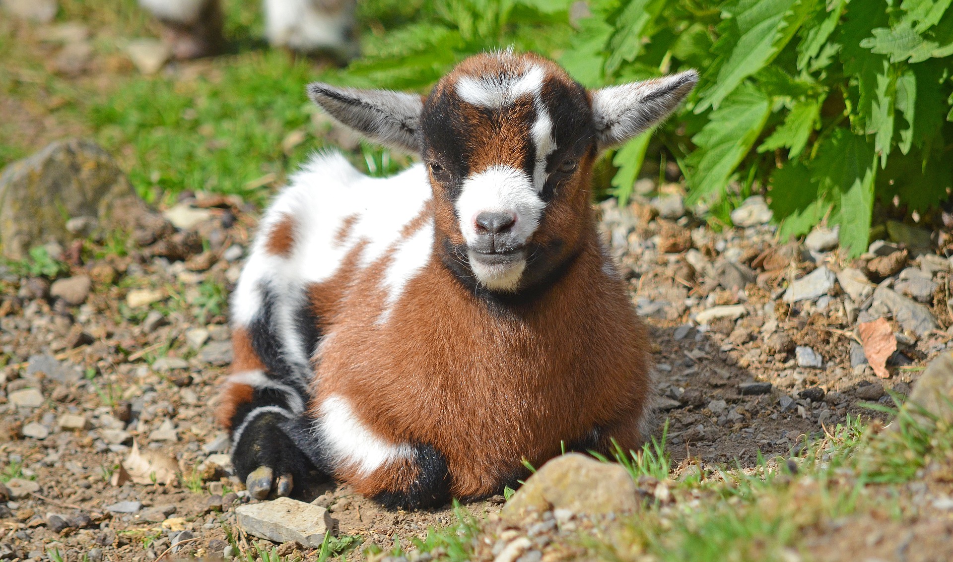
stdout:
[[139,0],[163,25],[172,56],[190,59],[221,52],[222,10],[218,0]]

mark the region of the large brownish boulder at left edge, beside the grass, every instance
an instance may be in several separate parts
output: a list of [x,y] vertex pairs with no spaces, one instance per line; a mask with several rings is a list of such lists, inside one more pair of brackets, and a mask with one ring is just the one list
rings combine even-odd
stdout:
[[70,217],[95,217],[106,227],[145,209],[106,151],[91,141],[56,141],[0,174],[0,250],[21,260],[46,242],[67,246]]

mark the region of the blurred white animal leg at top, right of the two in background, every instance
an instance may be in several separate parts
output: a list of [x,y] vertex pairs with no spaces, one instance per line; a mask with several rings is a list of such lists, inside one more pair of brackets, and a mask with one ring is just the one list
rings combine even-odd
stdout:
[[264,0],[265,35],[272,47],[329,54],[339,62],[357,56],[355,0]]

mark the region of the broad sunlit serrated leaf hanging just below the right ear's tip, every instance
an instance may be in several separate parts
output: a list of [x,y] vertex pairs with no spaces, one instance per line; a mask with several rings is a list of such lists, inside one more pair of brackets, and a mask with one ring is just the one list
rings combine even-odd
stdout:
[[771,101],[750,82],[726,97],[692,142],[698,147],[685,159],[691,191],[688,202],[717,198],[732,173],[758,140],[771,113]]

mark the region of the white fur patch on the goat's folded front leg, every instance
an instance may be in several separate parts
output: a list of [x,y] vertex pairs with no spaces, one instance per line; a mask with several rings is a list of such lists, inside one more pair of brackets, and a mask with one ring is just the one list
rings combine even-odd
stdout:
[[341,396],[331,396],[321,403],[320,417],[314,420],[314,432],[328,448],[335,468],[355,466],[361,476],[414,455],[410,445],[388,443],[364,427],[355,417],[351,404]]

